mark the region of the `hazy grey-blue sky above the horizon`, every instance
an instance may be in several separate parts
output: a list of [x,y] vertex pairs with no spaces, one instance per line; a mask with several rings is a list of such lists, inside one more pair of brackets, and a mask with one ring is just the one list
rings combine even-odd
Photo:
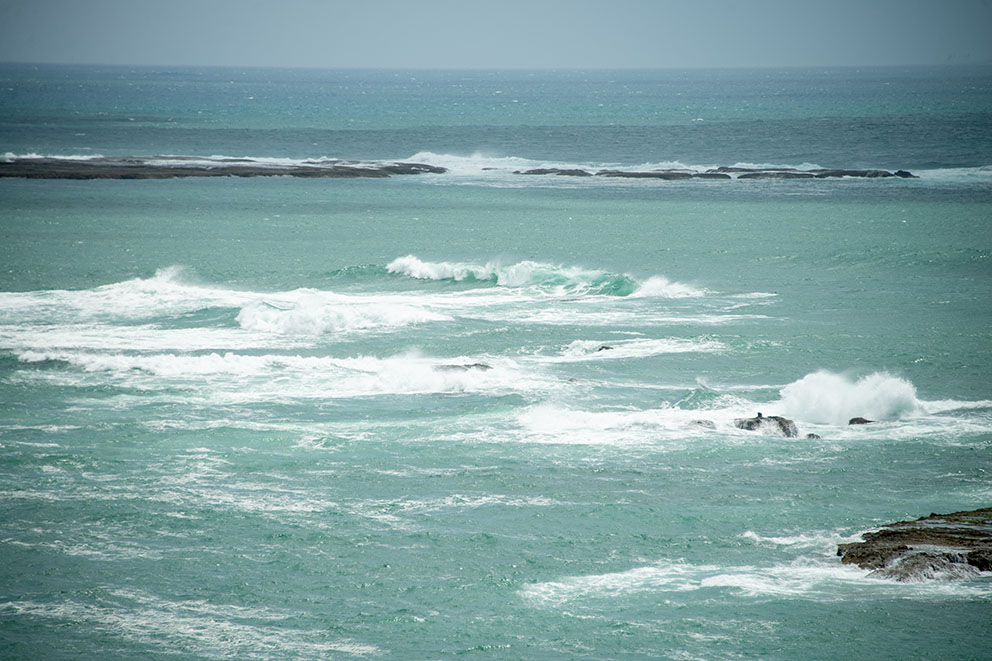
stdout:
[[992,0],[0,0],[0,61],[493,69],[992,63]]

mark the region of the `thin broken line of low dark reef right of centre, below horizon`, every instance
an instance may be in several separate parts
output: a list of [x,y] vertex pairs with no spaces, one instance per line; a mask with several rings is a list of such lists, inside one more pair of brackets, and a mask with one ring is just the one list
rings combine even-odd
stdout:
[[662,179],[665,181],[681,181],[685,179],[830,179],[838,177],[860,177],[865,179],[897,177],[900,179],[919,179],[915,174],[906,170],[890,172],[889,170],[799,170],[797,168],[739,167],[718,167],[709,170],[599,170],[596,172],[582,169],[536,168],[533,170],[517,170],[514,174]]

